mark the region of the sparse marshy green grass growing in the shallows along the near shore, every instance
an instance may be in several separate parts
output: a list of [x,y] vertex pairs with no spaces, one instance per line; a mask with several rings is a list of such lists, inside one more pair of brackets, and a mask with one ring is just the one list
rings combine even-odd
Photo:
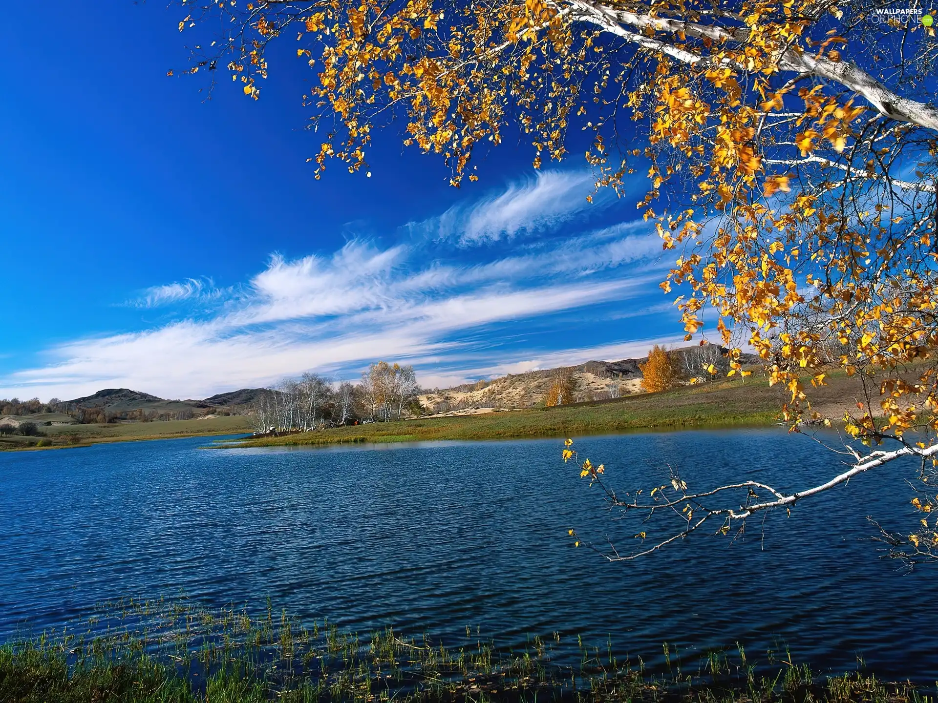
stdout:
[[[586,646],[579,663],[552,660],[561,636],[500,651],[467,627],[464,640],[432,642],[392,628],[360,637],[327,621],[306,627],[276,611],[209,610],[188,600],[121,601],[74,627],[0,648],[0,701],[225,703],[932,703],[911,684],[860,673],[818,678],[790,657],[754,666],[742,647],[682,666],[619,662],[612,642]],[[570,644],[566,642],[564,645]]]

